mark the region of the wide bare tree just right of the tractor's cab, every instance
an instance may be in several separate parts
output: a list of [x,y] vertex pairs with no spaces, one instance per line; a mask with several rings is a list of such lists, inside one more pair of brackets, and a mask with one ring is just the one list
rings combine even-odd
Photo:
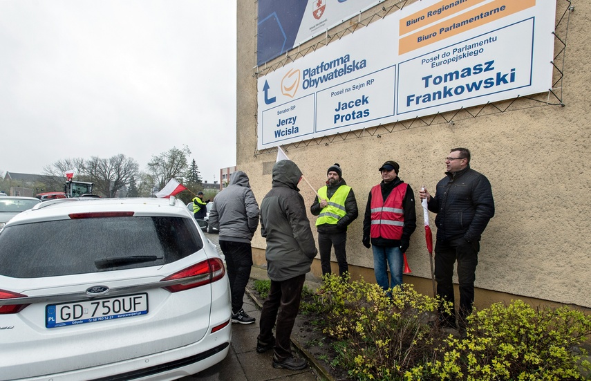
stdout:
[[92,156],[86,161],[86,174],[95,183],[95,193],[115,197],[131,178],[138,176],[139,167],[133,158],[126,158],[124,154],[109,159]]

